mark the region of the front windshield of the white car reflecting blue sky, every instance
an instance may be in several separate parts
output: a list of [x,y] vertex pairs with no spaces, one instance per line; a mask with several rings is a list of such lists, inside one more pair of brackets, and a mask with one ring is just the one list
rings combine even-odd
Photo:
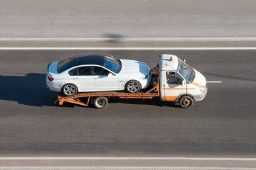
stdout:
[[105,63],[103,66],[114,73],[119,73],[121,71],[122,63],[114,57],[105,56]]

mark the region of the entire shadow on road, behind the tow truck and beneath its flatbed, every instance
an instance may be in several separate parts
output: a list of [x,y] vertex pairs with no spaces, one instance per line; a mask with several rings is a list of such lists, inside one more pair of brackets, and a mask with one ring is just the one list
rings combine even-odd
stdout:
[[[26,76],[1,76],[0,75],[1,100],[17,101],[28,106],[59,106],[54,104],[58,92],[46,88],[46,74],[30,73]],[[110,98],[110,103],[127,103],[130,105],[152,105],[176,107],[172,102],[161,101],[160,98],[152,99],[122,99]],[[63,106],[76,106],[72,103],[64,103]],[[63,107],[62,106],[62,107]],[[89,107],[94,107],[89,105]]]

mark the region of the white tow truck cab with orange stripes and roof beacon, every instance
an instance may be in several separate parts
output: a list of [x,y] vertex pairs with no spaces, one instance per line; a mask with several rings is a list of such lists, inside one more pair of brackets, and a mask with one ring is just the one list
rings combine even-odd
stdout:
[[161,54],[160,97],[162,101],[175,101],[183,108],[202,101],[207,94],[206,78],[175,55]]

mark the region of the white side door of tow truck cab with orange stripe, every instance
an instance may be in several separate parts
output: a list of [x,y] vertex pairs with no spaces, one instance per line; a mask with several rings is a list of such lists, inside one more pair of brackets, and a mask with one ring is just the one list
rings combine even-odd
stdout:
[[164,95],[163,100],[175,101],[180,94],[186,93],[186,81],[177,72],[166,72],[163,77]]

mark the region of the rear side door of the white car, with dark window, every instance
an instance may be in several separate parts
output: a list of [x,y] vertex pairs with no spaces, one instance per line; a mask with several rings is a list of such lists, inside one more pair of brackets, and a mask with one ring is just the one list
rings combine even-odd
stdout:
[[70,70],[69,74],[80,92],[95,91],[95,76],[92,74],[92,68],[90,66],[76,67]]

